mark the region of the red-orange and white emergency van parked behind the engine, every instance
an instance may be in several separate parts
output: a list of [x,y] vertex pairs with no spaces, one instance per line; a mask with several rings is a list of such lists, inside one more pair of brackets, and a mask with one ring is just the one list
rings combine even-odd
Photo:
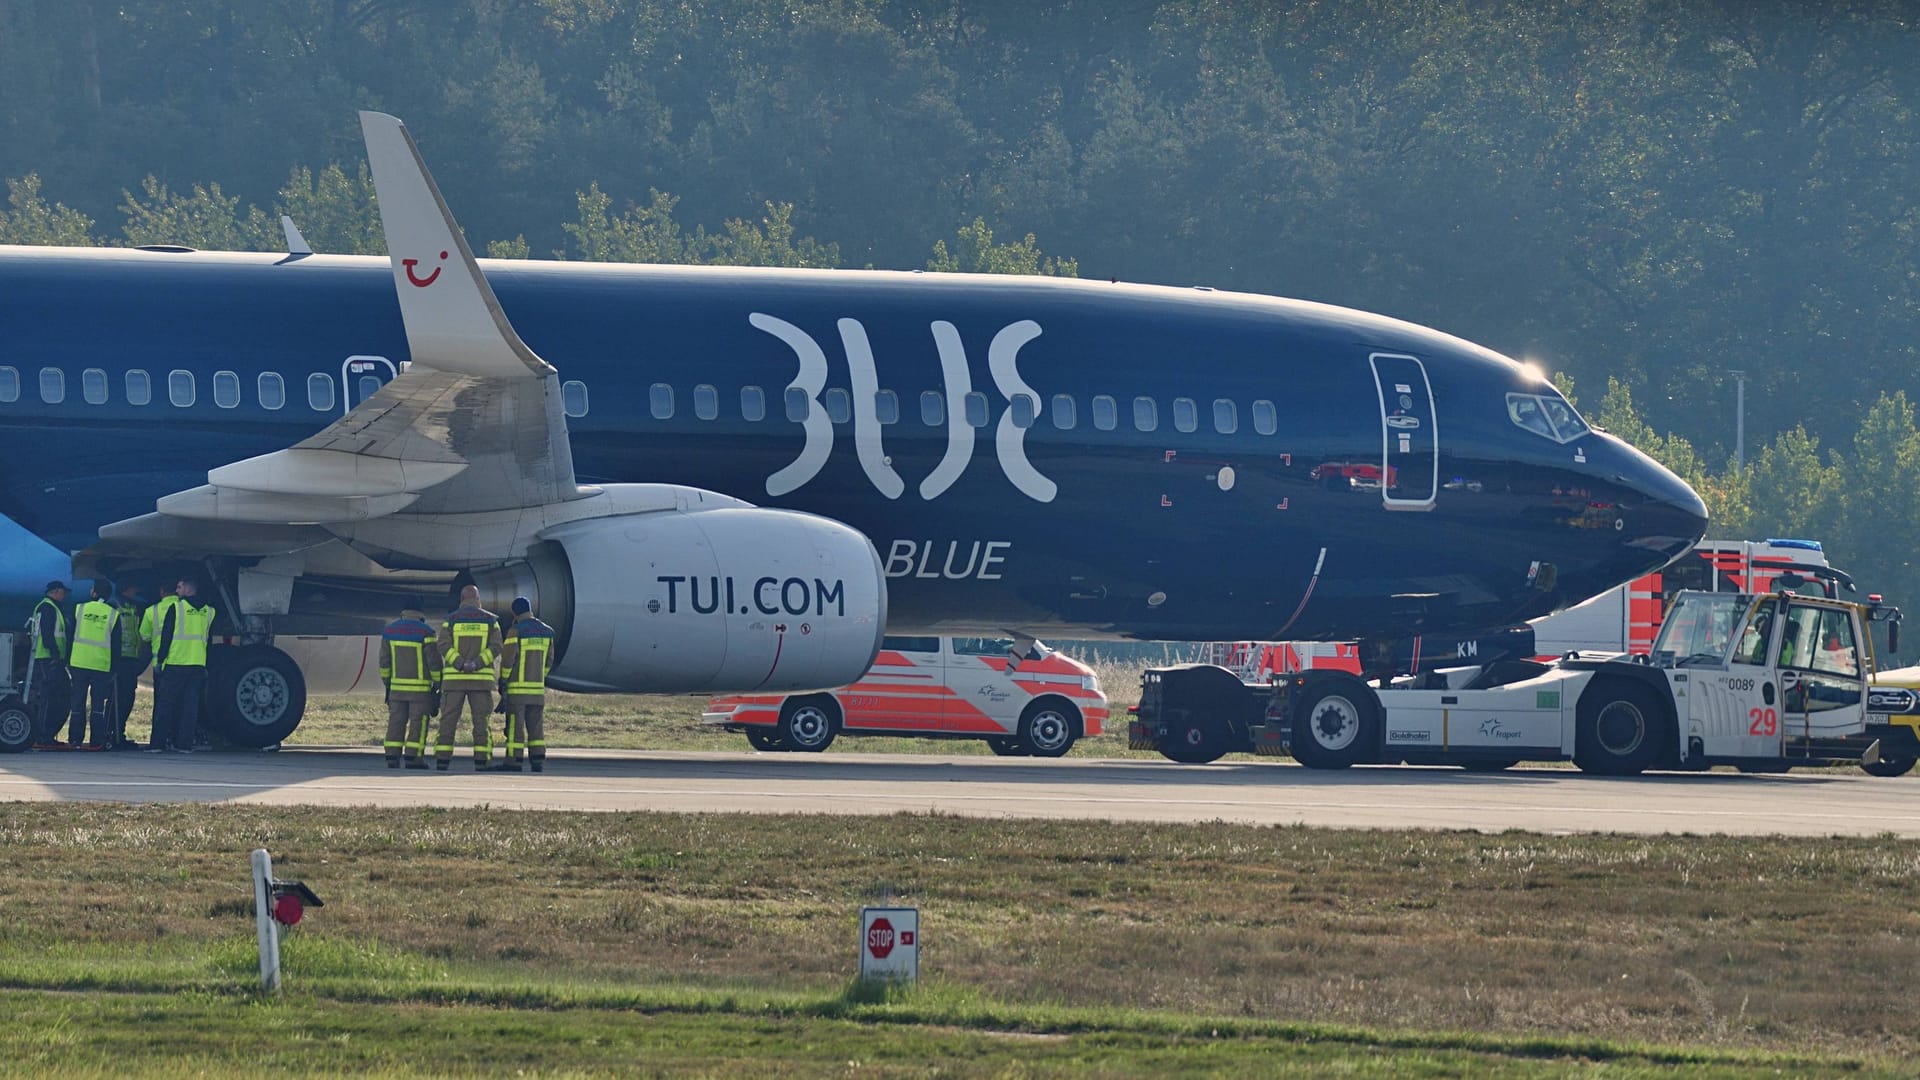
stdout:
[[1106,694],[1091,667],[1033,638],[889,636],[852,686],[714,698],[701,721],[745,732],[755,749],[818,753],[837,734],[883,734],[1060,757],[1102,732]]

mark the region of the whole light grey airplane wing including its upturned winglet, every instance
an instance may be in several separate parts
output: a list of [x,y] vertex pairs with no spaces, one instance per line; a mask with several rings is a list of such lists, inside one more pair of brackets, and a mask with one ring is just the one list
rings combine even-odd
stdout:
[[[286,450],[207,473],[154,515],[102,528],[113,548],[180,548],[188,523],[255,527],[290,550],[315,527],[392,513],[486,513],[591,494],[574,482],[559,375],[520,340],[399,119],[363,111],[411,363]],[[204,536],[192,550],[205,552]]]

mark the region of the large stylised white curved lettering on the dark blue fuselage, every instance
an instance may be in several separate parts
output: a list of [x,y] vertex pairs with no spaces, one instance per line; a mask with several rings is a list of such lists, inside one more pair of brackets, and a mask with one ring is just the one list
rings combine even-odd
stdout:
[[[774,315],[762,315],[755,311],[747,315],[747,321],[755,329],[774,334],[787,348],[793,350],[795,359],[801,363],[799,375],[787,384],[787,394],[795,390],[803,392],[806,398],[806,411],[801,417],[801,425],[806,432],[806,444],[801,446],[801,455],[793,459],[791,465],[780,469],[766,479],[766,494],[783,496],[787,492],[799,490],[808,480],[820,475],[826,467],[828,455],[833,454],[833,421],[828,417],[826,409],[820,405],[820,392],[828,384],[828,356],[820,348],[820,342],[812,338],[806,331],[787,323],[785,319],[776,319]],[[933,323],[933,346],[939,350],[941,357],[941,380],[947,390],[947,454],[941,457],[939,465],[933,467],[924,480],[920,480],[920,498],[935,500],[947,492],[966,473],[968,463],[973,459],[973,425],[968,423],[962,404],[968,394],[973,392],[973,377],[966,361],[966,346],[960,342],[960,331],[947,321]],[[893,469],[893,461],[887,457],[887,450],[881,438],[879,417],[876,415],[876,400],[879,394],[879,377],[874,371],[874,346],[868,342],[866,327],[858,319],[839,321],[841,350],[847,354],[847,371],[852,382],[852,444],[854,454],[860,459],[860,469],[866,479],[874,482],[874,488],[889,500],[897,500],[906,492],[906,480]],[[1041,325],[1033,319],[1021,319],[1000,329],[987,346],[987,371],[993,373],[993,384],[1006,398],[1008,405],[1016,398],[1025,398],[1031,409],[1039,409],[1039,394],[1033,386],[1020,377],[1020,348],[1041,336]],[[1033,415],[1027,415],[1031,425]],[[995,430],[993,446],[1000,459],[1000,471],[1006,479],[1020,488],[1021,494],[1035,502],[1054,502],[1058,486],[1041,475],[1039,469],[1027,461],[1025,448],[1027,429],[1014,417],[1014,409],[1008,407],[1000,413],[1000,425]]]

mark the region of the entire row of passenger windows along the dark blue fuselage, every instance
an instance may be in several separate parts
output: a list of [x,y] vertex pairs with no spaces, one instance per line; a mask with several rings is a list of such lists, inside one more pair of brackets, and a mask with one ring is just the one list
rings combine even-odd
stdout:
[[[361,375],[355,390],[359,400],[371,398],[382,386],[380,377]],[[81,371],[81,400],[88,405],[108,404],[108,373],[98,367],[88,367]],[[129,405],[148,405],[154,402],[154,380],[146,371],[132,369],[125,375],[123,386]],[[286,380],[278,373],[265,371],[253,380],[253,392],[263,409],[284,409],[286,407]],[[0,404],[17,402],[21,394],[21,377],[13,367],[0,367]],[[198,402],[200,386],[192,371],[169,371],[167,373],[167,402],[184,409]],[[60,367],[40,369],[40,400],[58,405],[67,400],[67,373]],[[336,405],[334,398],[334,379],[332,375],[315,373],[307,377],[307,407],[317,413],[330,413]],[[213,404],[223,409],[240,407],[240,375],[232,371],[213,373]],[[588,415],[588,386],[580,380],[568,380],[561,384],[561,405],[568,417]],[[833,386],[820,396],[820,405],[826,409],[828,419],[833,423],[849,423],[852,419],[852,394],[841,386]],[[987,427],[989,421],[989,400],[987,394],[973,392],[960,400],[958,415],[968,427]],[[799,386],[787,388],[781,400],[781,411],[793,423],[803,423],[808,419],[814,407],[814,398]],[[920,394],[920,423],[927,427],[943,427],[947,423],[947,396],[939,390],[925,390]],[[653,419],[664,421],[674,417],[676,402],[674,388],[668,382],[655,382],[647,388],[647,409]],[[1014,427],[1027,429],[1039,421],[1041,405],[1039,400],[1027,394],[1016,394],[1008,404],[1008,411],[1014,417]],[[1087,419],[1096,430],[1114,430],[1119,427],[1121,405],[1112,394],[1094,394],[1089,402]],[[1200,404],[1192,398],[1173,398],[1173,429],[1190,432],[1200,429]],[[1273,409],[1273,402],[1260,400],[1250,407],[1254,430],[1260,434],[1273,434],[1279,429],[1279,419]],[[712,421],[720,417],[720,390],[712,384],[701,382],[693,388],[693,415],[703,421]],[[741,386],[739,388],[739,415],[749,423],[758,423],[766,419],[766,390],[760,386]],[[1071,394],[1054,394],[1048,402],[1048,417],[1052,425],[1060,430],[1073,430],[1079,427],[1079,402]],[[874,419],[883,425],[900,423],[900,398],[893,390],[879,390],[874,394]],[[1131,419],[1135,430],[1158,430],[1160,429],[1160,402],[1156,398],[1133,398]],[[1240,405],[1231,398],[1215,398],[1212,409],[1213,430],[1219,434],[1235,434],[1240,430]]]

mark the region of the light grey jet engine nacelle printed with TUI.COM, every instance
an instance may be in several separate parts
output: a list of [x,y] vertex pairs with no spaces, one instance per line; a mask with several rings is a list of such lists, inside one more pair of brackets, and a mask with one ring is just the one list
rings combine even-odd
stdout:
[[636,694],[785,692],[866,675],[887,580],[866,536],[810,513],[722,507],[599,517],[472,575],[561,634],[551,684]]

